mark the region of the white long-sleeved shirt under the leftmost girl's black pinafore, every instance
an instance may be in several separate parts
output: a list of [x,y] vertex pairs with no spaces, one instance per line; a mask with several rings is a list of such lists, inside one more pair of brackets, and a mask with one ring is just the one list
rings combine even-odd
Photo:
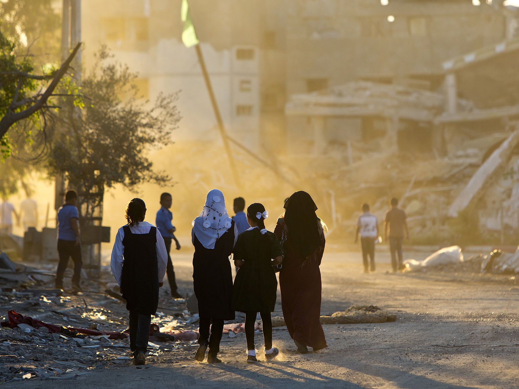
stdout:
[[[130,226],[132,234],[147,234],[149,230],[155,227],[153,224],[147,221],[139,221],[139,226]],[[122,240],[125,238],[124,228],[119,228],[115,237],[114,248],[112,249],[112,259],[110,261],[110,267],[112,268],[112,274],[115,280],[121,286],[122,278],[122,262],[124,261],[123,253],[125,252],[125,246],[122,245]],[[157,228],[157,265],[159,282],[164,281],[164,275],[166,274],[166,267],[168,266],[168,252],[166,251],[166,244],[162,235],[160,235],[159,229]]]

